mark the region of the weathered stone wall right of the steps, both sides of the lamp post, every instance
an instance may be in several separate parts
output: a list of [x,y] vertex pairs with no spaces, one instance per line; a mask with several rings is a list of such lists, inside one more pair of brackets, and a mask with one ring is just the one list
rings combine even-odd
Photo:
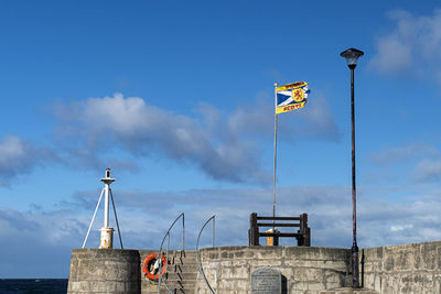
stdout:
[[[227,251],[224,254],[223,251]],[[352,285],[351,250],[301,247],[227,247],[201,252],[208,282],[218,293],[250,293],[250,272],[261,266],[280,271],[282,293],[318,294]],[[363,294],[441,293],[441,242],[364,249],[361,251]],[[197,277],[197,285],[204,285]],[[243,283],[240,283],[240,281]],[[362,290],[358,290],[362,291]],[[208,293],[208,292],[201,292]],[[333,292],[323,292],[333,293]],[[355,292],[354,292],[355,293]]]

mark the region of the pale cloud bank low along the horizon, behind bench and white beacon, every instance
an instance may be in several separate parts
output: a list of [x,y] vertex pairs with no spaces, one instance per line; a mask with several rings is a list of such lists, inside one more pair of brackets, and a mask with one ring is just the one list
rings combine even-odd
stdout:
[[[396,187],[362,188],[358,197],[359,247],[440,240],[441,217],[438,207],[441,205],[439,197],[441,195],[437,192],[437,187],[432,188],[428,193],[431,196],[416,194],[400,203],[387,197],[373,197],[391,193]],[[405,189],[406,187],[401,188],[402,192]],[[246,246],[249,214],[270,215],[272,205],[270,189],[193,189],[180,193],[115,190],[114,193],[125,248],[158,249],[166,229],[182,211],[185,213],[185,248],[194,249],[202,225],[212,215],[216,215],[216,246]],[[83,190],[49,210],[34,205],[26,211],[0,208],[0,238],[9,240],[0,251],[0,259],[3,261],[0,271],[8,270],[11,276],[15,277],[36,277],[39,272],[44,272],[45,277],[49,277],[47,275],[60,277],[61,273],[67,276],[71,250],[80,248],[97,198],[96,192]],[[282,216],[309,214],[312,246],[351,248],[349,188],[335,186],[279,188],[277,207],[277,214]],[[87,248],[98,246],[101,215],[103,207],[98,211]],[[116,227],[112,217],[111,221],[111,226]],[[181,224],[178,224],[172,231],[171,244],[174,248],[178,248],[181,238],[180,227]],[[335,238],[336,236],[338,238]],[[29,242],[34,244],[31,251]],[[209,227],[204,232],[202,242],[203,247],[211,244]],[[282,244],[295,244],[295,241],[284,239]],[[119,246],[117,235],[115,235],[115,246]],[[31,259],[34,253],[39,255],[39,266],[29,268],[23,272],[20,264]]]

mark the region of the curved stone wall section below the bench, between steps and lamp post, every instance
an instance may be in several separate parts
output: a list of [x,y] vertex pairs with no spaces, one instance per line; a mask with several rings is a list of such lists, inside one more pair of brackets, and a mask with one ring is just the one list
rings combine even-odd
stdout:
[[[282,274],[282,293],[310,294],[351,283],[351,250],[314,247],[223,247],[201,250],[205,275],[222,293],[250,293],[251,272],[271,266]],[[196,293],[209,293],[201,274]]]

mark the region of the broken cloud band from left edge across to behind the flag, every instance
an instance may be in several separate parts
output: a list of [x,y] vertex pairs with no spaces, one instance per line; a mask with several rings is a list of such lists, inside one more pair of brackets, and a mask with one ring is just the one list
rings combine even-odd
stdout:
[[[111,164],[136,172],[140,168],[137,157],[151,153],[195,164],[215,179],[257,184],[271,179],[259,162],[259,140],[270,140],[273,132],[272,105],[262,100],[238,107],[232,115],[201,104],[191,117],[150,106],[139,97],[116,94],[57,104],[53,110],[60,121],[56,151],[14,135],[0,139],[1,186],[47,162],[94,170]],[[279,140],[338,138],[323,98],[313,100],[298,116],[287,116],[287,120]],[[126,151],[125,156],[116,159],[114,149]]]

